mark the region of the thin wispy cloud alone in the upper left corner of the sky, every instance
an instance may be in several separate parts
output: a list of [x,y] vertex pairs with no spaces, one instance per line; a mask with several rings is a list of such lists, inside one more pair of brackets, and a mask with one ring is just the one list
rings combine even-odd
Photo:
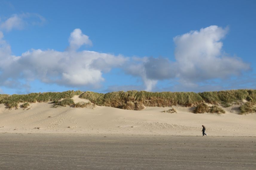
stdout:
[[41,25],[45,18],[35,13],[13,14],[10,18],[0,22],[0,29],[11,31],[12,29],[24,29],[27,25]]

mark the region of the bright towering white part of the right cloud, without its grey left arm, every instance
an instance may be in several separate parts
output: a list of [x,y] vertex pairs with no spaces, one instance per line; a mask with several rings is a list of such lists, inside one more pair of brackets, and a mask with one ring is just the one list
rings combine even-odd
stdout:
[[175,37],[175,59],[180,71],[178,77],[200,81],[226,78],[248,70],[249,64],[222,52],[223,43],[220,40],[227,31],[214,25]]

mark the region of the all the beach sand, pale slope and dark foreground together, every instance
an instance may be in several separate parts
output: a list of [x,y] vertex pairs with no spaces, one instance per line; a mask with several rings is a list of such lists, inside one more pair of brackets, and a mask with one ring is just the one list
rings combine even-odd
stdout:
[[1,104],[0,169],[255,169],[256,114],[238,107],[194,114],[181,106],[167,113],[171,107]]

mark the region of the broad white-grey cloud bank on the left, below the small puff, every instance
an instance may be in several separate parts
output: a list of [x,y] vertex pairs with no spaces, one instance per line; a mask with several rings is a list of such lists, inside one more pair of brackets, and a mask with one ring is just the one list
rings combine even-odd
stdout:
[[[74,30],[76,32],[77,29]],[[72,33],[71,33],[72,35]],[[83,35],[81,34],[83,37]],[[3,38],[2,33],[0,37]],[[78,40],[71,36],[72,40]],[[39,79],[45,83],[65,86],[97,86],[104,81],[102,71],[119,67],[127,58],[93,51],[65,51],[33,49],[21,56],[11,55],[10,46],[0,39],[0,84],[8,85],[9,80],[31,81]],[[73,42],[73,41],[72,41]],[[84,40],[77,43],[85,43]],[[70,43],[72,46],[75,43]],[[104,64],[102,64],[104,63]]]

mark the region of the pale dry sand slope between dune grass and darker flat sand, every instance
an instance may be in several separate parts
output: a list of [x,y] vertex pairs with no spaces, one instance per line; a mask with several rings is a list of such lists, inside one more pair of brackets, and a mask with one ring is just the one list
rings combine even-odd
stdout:
[[[78,96],[73,99],[88,102]],[[141,111],[103,106],[53,108],[51,103],[37,102],[29,109],[10,110],[1,104],[0,132],[201,135],[204,124],[208,135],[256,136],[256,114],[238,115],[237,107],[224,108],[226,114],[194,114],[192,108],[179,106],[174,107],[177,113],[163,113],[169,107]]]

